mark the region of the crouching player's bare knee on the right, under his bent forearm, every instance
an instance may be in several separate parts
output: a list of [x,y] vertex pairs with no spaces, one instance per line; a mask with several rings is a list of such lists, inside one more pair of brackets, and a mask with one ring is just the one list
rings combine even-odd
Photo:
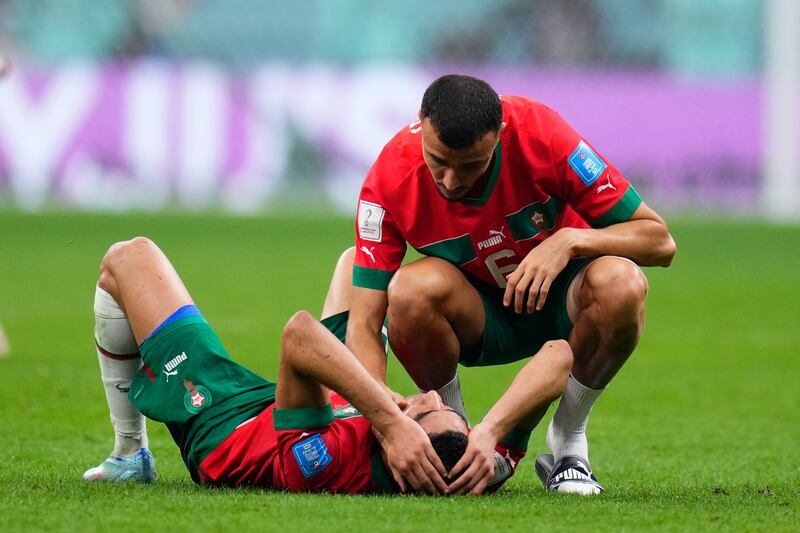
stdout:
[[[647,278],[632,261],[621,257],[602,257],[586,271],[585,285],[595,303],[609,312],[644,310]],[[589,302],[587,302],[589,303]]]

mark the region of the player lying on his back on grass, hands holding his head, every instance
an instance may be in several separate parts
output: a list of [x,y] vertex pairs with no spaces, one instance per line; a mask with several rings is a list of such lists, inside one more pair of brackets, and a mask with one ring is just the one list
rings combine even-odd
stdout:
[[[342,286],[339,278],[323,313],[341,327],[350,280]],[[448,492],[447,469],[467,445],[464,419],[435,391],[393,402],[308,313],[286,325],[278,382],[269,382],[229,358],[166,256],[141,237],[106,253],[94,309],[116,441],[84,479],[154,481],[147,416],[167,425],[197,483]],[[571,364],[566,343],[543,347],[481,424],[482,442],[495,448],[512,428],[538,421],[563,390]],[[499,449],[515,460],[511,450]],[[517,459],[522,454],[514,452]],[[486,482],[479,481],[469,490],[483,491]]]

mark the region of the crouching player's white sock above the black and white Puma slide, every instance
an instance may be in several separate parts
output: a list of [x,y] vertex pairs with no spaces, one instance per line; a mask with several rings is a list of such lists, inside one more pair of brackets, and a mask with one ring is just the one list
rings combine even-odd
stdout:
[[586,422],[592,405],[603,390],[590,389],[578,383],[572,374],[569,375],[558,409],[547,427],[547,447],[556,462],[567,455],[589,460]]

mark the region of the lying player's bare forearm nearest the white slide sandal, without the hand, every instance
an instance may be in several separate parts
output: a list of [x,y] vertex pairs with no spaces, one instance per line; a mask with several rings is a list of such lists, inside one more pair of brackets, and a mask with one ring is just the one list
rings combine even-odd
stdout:
[[532,415],[538,421],[544,409],[563,392],[571,366],[572,351],[566,341],[546,343],[483,418],[481,430],[497,442],[512,429],[528,425]]

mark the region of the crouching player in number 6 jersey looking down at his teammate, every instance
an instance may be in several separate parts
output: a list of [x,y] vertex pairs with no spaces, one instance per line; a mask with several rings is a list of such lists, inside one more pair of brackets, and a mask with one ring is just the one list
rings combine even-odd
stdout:
[[[599,494],[589,414],[642,333],[640,266],[675,255],[667,224],[542,103],[446,75],[418,119],[361,188],[348,347],[371,368],[388,317],[416,385],[464,414],[459,365],[506,364],[567,340],[574,364],[537,473],[548,490]],[[424,257],[403,264],[409,247]]]

